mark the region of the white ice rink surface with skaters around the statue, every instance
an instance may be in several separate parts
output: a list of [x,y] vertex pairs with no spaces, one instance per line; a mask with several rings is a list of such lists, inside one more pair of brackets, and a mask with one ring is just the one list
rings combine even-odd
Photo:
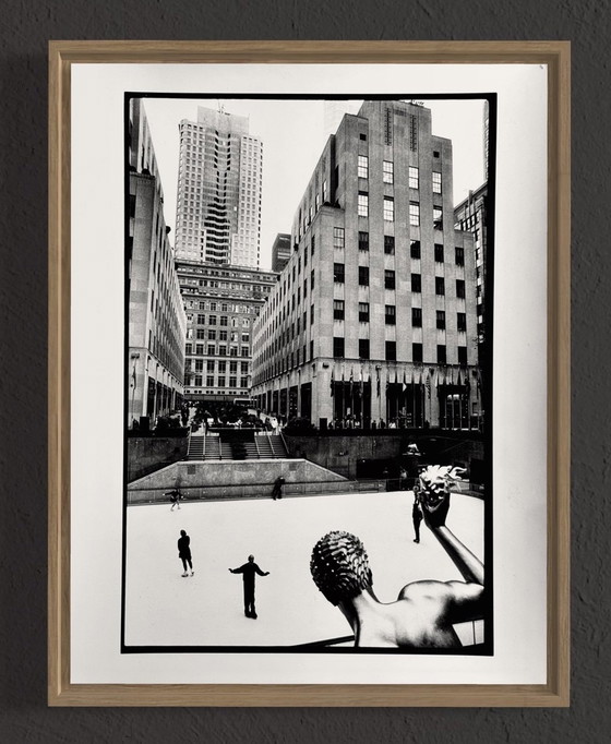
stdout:
[[[333,529],[364,543],[378,599],[409,581],[463,580],[424,523],[414,540],[411,492],[351,493],[128,507],[128,646],[292,646],[351,635],[344,615],[310,576],[314,543]],[[483,503],[453,495],[448,528],[483,560]],[[193,577],[182,578],[177,540],[191,537]],[[256,576],[257,620],[244,617],[242,577],[228,568],[248,555]]]

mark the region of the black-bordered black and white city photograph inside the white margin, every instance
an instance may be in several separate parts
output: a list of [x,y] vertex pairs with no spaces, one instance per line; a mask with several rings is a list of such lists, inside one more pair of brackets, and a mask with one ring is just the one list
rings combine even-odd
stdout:
[[124,93],[123,653],[494,655],[496,105]]

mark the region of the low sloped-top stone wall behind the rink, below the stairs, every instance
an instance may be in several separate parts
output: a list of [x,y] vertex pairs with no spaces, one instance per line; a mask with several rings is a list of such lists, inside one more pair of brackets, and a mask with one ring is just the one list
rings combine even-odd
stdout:
[[167,501],[164,492],[179,488],[185,500],[267,497],[274,481],[285,479],[284,493],[346,493],[383,490],[383,484],[347,481],[303,459],[211,460],[175,463],[128,485],[128,502]]

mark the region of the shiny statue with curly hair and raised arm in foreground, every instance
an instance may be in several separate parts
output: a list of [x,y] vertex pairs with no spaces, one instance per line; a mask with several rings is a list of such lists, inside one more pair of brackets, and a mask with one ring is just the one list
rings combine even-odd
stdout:
[[478,620],[483,607],[483,565],[447,529],[450,488],[458,468],[429,466],[420,473],[418,494],[424,521],[465,581],[414,581],[395,602],[382,603],[363,543],[345,531],[325,535],[314,545],[310,571],[324,597],[344,613],[355,646],[457,648],[455,623]]

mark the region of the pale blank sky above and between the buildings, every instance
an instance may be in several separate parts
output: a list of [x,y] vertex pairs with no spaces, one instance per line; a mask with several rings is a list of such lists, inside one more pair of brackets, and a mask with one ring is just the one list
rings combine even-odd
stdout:
[[[432,111],[432,132],[452,140],[454,203],[458,204],[483,182],[483,100],[424,100]],[[250,133],[263,142],[261,204],[261,268],[272,263],[272,244],[278,232],[290,232],[292,217],[330,134],[338,110],[355,113],[360,101],[255,100],[217,98],[146,98],[157,165],[164,185],[166,224],[176,225],[179,131],[182,119],[197,120],[197,106],[225,108],[248,116]]]

